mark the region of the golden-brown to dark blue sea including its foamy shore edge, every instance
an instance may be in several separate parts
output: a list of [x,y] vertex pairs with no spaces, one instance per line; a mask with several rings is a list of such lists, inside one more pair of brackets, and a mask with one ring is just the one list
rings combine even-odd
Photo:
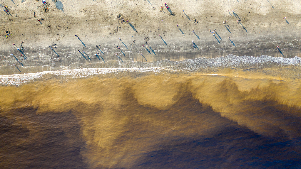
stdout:
[[227,55],[1,75],[0,168],[300,168],[300,63]]

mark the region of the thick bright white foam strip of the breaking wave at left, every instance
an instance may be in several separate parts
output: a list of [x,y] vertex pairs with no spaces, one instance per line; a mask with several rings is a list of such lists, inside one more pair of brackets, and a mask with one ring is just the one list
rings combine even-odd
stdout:
[[23,83],[27,83],[41,78],[43,75],[61,75],[69,76],[70,78],[89,77],[91,75],[100,75],[107,73],[118,72],[155,72],[158,73],[164,68],[150,67],[150,68],[89,68],[89,69],[71,69],[71,70],[57,70],[57,71],[45,71],[38,73],[26,73],[15,75],[1,75],[0,85],[15,85],[19,86]]

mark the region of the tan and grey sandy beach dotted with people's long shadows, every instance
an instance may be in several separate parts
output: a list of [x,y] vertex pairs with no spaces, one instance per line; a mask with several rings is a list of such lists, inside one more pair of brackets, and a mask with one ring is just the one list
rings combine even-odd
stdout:
[[[164,7],[165,2],[170,10]],[[46,7],[41,0],[1,0],[0,4],[9,8],[8,14],[4,8],[1,12],[2,67],[19,64],[10,54],[24,66],[52,67],[103,62],[95,57],[96,52],[106,62],[119,60],[116,53],[123,61],[143,62],[228,54],[301,56],[300,0],[48,0],[46,3],[50,5]],[[231,12],[233,9],[235,13]],[[122,18],[130,24],[121,23]],[[239,18],[241,21],[237,23]],[[37,19],[43,20],[39,23]],[[216,29],[215,36],[209,29]],[[6,31],[11,35],[5,37]],[[21,42],[26,60],[21,59],[21,53],[12,45],[20,46]],[[49,47],[54,44],[57,44],[55,52]],[[96,45],[101,45],[101,51]],[[280,46],[280,51],[276,46]],[[85,51],[91,60],[86,56],[85,60],[78,50]]]

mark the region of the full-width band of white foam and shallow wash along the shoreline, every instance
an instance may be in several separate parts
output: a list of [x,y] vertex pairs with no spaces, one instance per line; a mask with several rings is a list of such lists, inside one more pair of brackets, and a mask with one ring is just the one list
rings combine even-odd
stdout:
[[[71,67],[77,65],[73,63]],[[90,64],[89,64],[90,65]],[[84,65],[84,66],[89,66]],[[270,66],[293,66],[294,68],[300,69],[301,58],[281,58],[281,57],[250,57],[250,56],[234,56],[227,55],[224,57],[217,57],[213,59],[209,58],[195,58],[186,59],[182,61],[172,61],[172,60],[161,60],[153,62],[131,62],[127,61],[125,64],[119,65],[122,67],[115,68],[81,68],[77,67],[57,71],[45,71],[38,73],[27,73],[27,74],[15,74],[15,75],[2,75],[0,76],[0,85],[20,85],[33,81],[35,79],[43,77],[45,74],[51,75],[61,75],[68,76],[68,78],[80,78],[88,77],[91,75],[107,74],[107,73],[118,73],[118,72],[160,72],[164,69],[166,71],[172,72],[195,72],[202,71],[206,69],[220,69],[225,67],[234,67],[240,69],[250,69],[250,68],[264,68]],[[91,65],[93,66],[93,65]],[[96,65],[94,65],[96,66]],[[108,65],[112,66],[112,65]],[[116,66],[116,65],[113,65]],[[79,66],[81,67],[81,66]]]

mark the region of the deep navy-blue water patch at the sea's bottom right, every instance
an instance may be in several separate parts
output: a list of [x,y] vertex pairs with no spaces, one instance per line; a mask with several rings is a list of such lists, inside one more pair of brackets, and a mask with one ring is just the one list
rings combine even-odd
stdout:
[[[235,137],[242,137],[236,140]],[[251,138],[251,139],[250,139]],[[271,141],[245,128],[225,128],[211,138],[183,138],[148,152],[137,168],[298,168],[300,148],[280,138]],[[261,147],[261,149],[258,149]]]

